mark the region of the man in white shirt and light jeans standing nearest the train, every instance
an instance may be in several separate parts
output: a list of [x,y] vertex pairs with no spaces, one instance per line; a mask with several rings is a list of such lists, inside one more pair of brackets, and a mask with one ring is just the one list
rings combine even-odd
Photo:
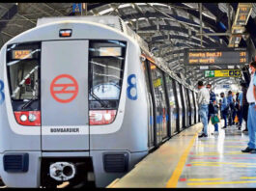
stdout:
[[198,136],[199,138],[201,137],[207,137],[208,136],[208,107],[209,107],[209,102],[210,102],[210,93],[209,91],[205,88],[204,83],[202,81],[198,82],[198,106],[199,106],[199,116],[201,118],[201,121],[204,125],[203,128],[203,133]]

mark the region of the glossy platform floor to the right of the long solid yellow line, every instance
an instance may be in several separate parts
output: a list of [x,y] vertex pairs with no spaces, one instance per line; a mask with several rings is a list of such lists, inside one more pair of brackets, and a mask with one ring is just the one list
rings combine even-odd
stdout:
[[197,139],[177,187],[256,187],[256,154],[241,151],[247,142],[248,136],[236,126],[221,129],[219,135]]

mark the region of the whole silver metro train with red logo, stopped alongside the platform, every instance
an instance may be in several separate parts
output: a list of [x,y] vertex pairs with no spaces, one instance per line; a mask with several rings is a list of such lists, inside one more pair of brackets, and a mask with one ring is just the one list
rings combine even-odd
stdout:
[[41,18],[0,59],[8,187],[105,187],[199,122],[197,91],[117,16]]

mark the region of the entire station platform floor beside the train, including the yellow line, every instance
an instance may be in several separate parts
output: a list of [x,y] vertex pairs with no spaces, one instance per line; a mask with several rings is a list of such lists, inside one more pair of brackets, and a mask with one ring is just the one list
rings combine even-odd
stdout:
[[108,188],[256,187],[256,154],[243,153],[248,134],[228,126],[198,138],[202,123],[174,136]]

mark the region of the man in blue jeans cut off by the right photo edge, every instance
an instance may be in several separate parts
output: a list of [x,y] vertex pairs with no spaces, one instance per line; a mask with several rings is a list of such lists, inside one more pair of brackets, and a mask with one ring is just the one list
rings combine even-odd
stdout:
[[256,62],[252,62],[249,65],[250,84],[247,90],[246,98],[249,104],[248,109],[248,134],[249,142],[248,147],[242,152],[256,153]]

